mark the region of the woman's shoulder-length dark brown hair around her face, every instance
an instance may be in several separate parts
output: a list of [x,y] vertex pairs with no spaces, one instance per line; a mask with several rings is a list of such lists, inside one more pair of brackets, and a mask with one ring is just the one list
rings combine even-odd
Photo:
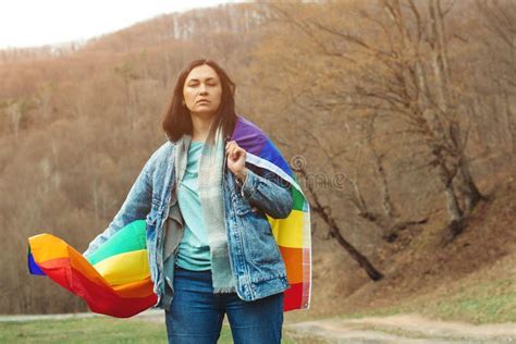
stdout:
[[214,142],[214,134],[219,127],[222,128],[224,138],[230,136],[235,127],[235,84],[231,81],[228,73],[214,61],[209,59],[199,59],[191,62],[177,76],[172,100],[168,111],[163,115],[162,128],[167,137],[172,142],[176,142],[184,134],[193,134],[193,124],[189,110],[185,105],[183,105],[183,87],[189,72],[196,66],[202,64],[211,66],[217,72],[222,86],[222,99],[210,127],[207,143]]

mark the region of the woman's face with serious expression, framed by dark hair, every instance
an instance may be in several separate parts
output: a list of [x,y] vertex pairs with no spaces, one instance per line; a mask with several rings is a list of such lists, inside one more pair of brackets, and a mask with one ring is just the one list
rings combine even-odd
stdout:
[[222,99],[222,85],[217,72],[208,64],[193,69],[186,76],[183,97],[191,113],[213,115]]

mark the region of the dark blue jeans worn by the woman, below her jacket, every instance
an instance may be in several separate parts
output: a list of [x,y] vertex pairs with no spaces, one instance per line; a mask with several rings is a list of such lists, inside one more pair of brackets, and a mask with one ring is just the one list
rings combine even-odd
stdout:
[[174,298],[165,310],[169,343],[217,343],[224,314],[235,344],[281,342],[283,293],[244,302],[236,293],[213,294],[211,270],[175,267]]

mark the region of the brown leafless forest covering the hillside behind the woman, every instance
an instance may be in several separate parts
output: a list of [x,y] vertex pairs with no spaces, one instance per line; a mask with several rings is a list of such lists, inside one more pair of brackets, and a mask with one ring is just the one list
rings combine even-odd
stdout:
[[[237,113],[310,200],[315,311],[392,277],[374,295],[409,297],[516,247],[515,1],[224,4],[0,50],[0,314],[86,310],[28,274],[27,238],[83,251],[107,228],[165,142],[176,76],[197,58],[229,71]],[[470,254],[451,250],[496,200],[513,205],[505,218]],[[428,258],[446,249],[455,270]]]

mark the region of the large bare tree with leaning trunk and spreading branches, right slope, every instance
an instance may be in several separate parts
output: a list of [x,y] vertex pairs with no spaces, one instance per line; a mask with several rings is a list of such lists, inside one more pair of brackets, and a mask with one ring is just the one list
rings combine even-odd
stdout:
[[450,63],[445,19],[452,7],[443,9],[438,0],[427,9],[411,0],[383,0],[359,11],[363,33],[322,16],[275,9],[316,42],[320,54],[347,65],[348,85],[339,89],[343,103],[390,114],[403,124],[397,133],[415,136],[426,147],[425,167],[434,169],[443,186],[450,233],[460,233],[465,217],[483,196],[469,171],[469,128],[462,120],[467,115],[460,112],[460,81]]

